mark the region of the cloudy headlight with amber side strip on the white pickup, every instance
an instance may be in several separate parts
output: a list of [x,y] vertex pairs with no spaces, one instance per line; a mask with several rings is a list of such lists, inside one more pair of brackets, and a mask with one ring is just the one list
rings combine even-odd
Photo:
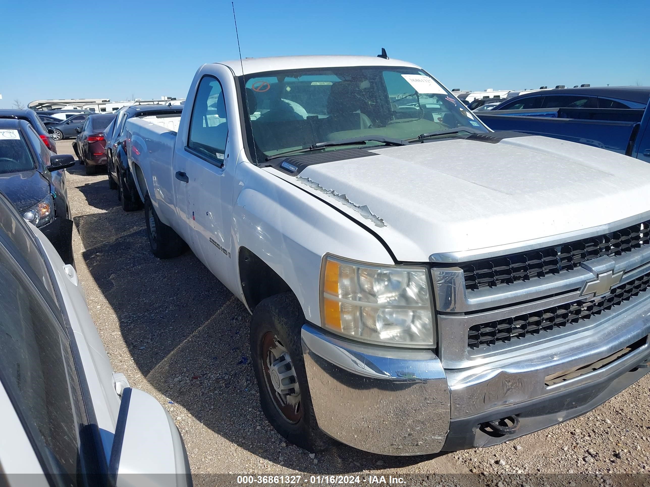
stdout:
[[322,323],[331,331],[383,345],[435,345],[425,268],[382,267],[326,256]]

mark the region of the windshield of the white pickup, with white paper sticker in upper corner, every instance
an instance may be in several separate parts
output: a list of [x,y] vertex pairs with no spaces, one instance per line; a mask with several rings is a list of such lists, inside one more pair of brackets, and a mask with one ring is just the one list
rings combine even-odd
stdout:
[[245,83],[250,154],[259,162],[318,142],[369,136],[408,140],[456,127],[487,132],[463,103],[417,68],[277,71],[248,75]]

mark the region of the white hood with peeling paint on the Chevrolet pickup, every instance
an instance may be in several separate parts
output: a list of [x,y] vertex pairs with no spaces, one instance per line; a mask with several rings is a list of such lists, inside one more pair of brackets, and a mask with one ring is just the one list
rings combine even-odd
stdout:
[[454,139],[372,152],[297,176],[268,170],[346,212],[409,262],[580,238],[650,210],[648,164],[564,140]]

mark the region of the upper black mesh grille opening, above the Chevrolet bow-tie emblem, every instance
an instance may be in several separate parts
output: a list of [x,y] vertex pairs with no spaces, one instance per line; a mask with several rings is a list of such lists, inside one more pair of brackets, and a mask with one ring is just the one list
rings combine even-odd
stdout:
[[465,289],[512,284],[570,271],[580,262],[602,256],[621,255],[650,243],[650,221],[642,221],[616,232],[606,233],[556,247],[546,247],[504,257],[478,260],[461,265],[465,274]]

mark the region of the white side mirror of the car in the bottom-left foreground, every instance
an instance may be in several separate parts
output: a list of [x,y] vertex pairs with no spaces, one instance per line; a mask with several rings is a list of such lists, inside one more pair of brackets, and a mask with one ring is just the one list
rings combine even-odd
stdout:
[[109,477],[116,487],[192,486],[187,452],[174,421],[161,403],[139,389],[122,392]]

